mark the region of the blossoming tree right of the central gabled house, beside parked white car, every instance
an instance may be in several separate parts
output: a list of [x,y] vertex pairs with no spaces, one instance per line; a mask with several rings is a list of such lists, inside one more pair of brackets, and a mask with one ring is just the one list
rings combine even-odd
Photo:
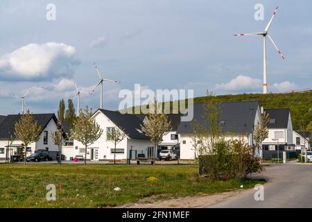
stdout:
[[[159,110],[159,111],[157,111]],[[171,131],[171,121],[164,112],[160,112],[157,101],[150,104],[150,112],[147,115],[147,121],[141,124],[141,130],[148,137],[150,142],[154,144],[153,164],[155,166],[157,145],[162,142],[164,135]]]

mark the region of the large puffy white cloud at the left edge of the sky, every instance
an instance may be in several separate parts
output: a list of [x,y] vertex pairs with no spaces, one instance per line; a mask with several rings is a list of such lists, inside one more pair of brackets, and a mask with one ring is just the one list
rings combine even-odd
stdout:
[[0,58],[0,76],[7,80],[46,80],[72,76],[76,49],[63,43],[27,44]]

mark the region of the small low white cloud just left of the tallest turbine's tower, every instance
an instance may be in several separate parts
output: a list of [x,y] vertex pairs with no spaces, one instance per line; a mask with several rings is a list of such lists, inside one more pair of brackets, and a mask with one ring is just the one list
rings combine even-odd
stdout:
[[227,92],[239,92],[241,90],[252,90],[261,88],[262,80],[259,78],[252,78],[250,76],[239,75],[229,81],[229,83],[216,84],[216,90]]

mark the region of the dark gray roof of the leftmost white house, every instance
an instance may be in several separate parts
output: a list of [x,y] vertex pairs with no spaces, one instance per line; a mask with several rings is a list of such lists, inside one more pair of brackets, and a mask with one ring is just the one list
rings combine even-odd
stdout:
[[[42,127],[42,130],[46,128],[46,125],[49,123],[51,119],[58,121],[55,117],[55,114],[32,114],[33,118],[37,121],[37,124]],[[8,139],[10,136],[15,136],[15,123],[19,121],[21,118],[21,114],[8,115],[1,123],[0,123],[0,139]],[[42,131],[40,132],[42,133]]]

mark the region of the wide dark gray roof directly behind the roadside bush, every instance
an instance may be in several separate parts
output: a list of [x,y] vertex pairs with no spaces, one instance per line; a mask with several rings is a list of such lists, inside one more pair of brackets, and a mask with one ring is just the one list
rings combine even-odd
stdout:
[[[259,108],[258,101],[239,101],[239,102],[225,102],[217,103],[220,108],[219,121],[224,121],[222,126],[223,133],[252,133],[254,128],[254,120],[257,109]],[[204,103],[194,104],[193,121],[180,123],[177,129],[178,133],[193,133],[193,127],[200,124],[200,127],[209,131],[210,126],[207,124],[205,114],[211,110],[207,109]]]

